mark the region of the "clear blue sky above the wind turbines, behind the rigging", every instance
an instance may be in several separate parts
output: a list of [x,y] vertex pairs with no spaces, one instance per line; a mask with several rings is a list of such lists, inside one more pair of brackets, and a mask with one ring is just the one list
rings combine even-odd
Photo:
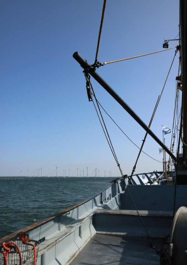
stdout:
[[[1,169],[0,176],[81,176],[89,167],[99,176],[120,176],[95,108],[88,101],[78,51],[95,60],[103,1],[0,1]],[[179,1],[107,0],[98,61],[108,62],[163,50],[179,32]],[[178,45],[170,41],[169,48]],[[104,65],[98,73],[148,125],[165,83],[175,49]],[[151,125],[162,140],[162,125],[172,128],[179,53]],[[141,147],[145,131],[93,79],[100,104]],[[124,174],[131,174],[139,149],[103,113]],[[170,146],[171,133],[165,136]],[[160,146],[147,137],[143,151],[156,160]],[[56,166],[55,166],[56,165]],[[162,163],[141,154],[135,173],[161,171]],[[93,175],[95,173],[93,172]],[[79,171],[80,176],[80,171]]]

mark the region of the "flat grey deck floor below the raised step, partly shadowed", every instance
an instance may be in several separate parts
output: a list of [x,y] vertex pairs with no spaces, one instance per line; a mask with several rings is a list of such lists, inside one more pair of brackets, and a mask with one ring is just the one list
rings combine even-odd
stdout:
[[[161,238],[151,238],[151,243],[160,250]],[[127,237],[109,234],[95,234],[70,265],[137,265],[160,264],[160,257],[148,247],[146,237]]]

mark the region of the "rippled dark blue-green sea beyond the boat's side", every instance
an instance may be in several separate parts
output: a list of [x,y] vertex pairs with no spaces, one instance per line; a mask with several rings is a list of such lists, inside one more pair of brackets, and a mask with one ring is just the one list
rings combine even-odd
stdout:
[[0,238],[89,199],[115,178],[0,178]]

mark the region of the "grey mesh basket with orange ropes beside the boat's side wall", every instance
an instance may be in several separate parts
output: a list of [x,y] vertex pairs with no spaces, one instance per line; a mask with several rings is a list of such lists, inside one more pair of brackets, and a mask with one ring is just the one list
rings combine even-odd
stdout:
[[[10,241],[9,241],[10,242]],[[32,246],[23,244],[20,239],[16,239],[13,241],[17,244],[20,249],[22,256],[22,264],[24,265],[33,265],[34,264],[34,248]],[[7,242],[6,242],[7,243]],[[40,242],[36,240],[28,240],[27,243],[33,244],[36,247],[36,259],[38,257]],[[8,265],[19,265],[20,258],[17,251],[17,248],[12,245],[10,253],[7,254],[7,264]],[[2,244],[0,245],[0,265],[3,265],[3,251],[4,248]]]

